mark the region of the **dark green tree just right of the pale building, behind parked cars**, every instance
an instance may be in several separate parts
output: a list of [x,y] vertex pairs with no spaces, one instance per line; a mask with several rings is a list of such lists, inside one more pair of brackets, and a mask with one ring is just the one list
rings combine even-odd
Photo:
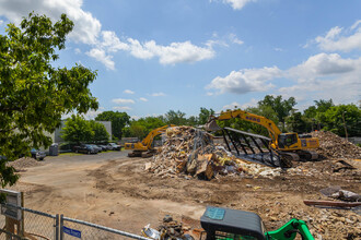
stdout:
[[130,123],[130,116],[127,112],[103,111],[95,118],[96,121],[110,121],[112,134],[117,139],[121,139],[123,129]]

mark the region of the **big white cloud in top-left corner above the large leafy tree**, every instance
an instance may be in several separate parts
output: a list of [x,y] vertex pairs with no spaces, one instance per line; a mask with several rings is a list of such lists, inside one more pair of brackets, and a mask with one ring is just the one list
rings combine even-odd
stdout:
[[30,12],[46,14],[53,20],[59,20],[62,13],[74,22],[74,29],[69,37],[84,44],[95,44],[101,33],[101,23],[90,12],[81,9],[82,0],[2,0],[0,1],[0,15],[4,15],[11,22],[19,24],[23,16]]

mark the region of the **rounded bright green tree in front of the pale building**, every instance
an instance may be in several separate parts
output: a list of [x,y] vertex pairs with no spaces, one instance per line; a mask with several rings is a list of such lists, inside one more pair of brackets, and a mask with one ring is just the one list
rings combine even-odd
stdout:
[[83,117],[72,115],[65,124],[66,127],[61,130],[61,139],[65,141],[80,144],[93,140],[92,124]]

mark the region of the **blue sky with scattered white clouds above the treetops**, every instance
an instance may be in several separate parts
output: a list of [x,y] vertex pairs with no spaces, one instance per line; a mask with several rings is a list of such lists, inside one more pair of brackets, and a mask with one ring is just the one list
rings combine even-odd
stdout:
[[[347,2],[347,3],[346,3]],[[361,99],[361,1],[0,0],[0,33],[35,11],[74,24],[59,65],[97,70],[101,108],[133,118]]]

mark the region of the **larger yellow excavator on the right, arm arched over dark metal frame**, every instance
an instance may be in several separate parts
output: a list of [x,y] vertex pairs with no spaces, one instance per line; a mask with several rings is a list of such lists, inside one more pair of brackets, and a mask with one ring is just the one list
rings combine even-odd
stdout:
[[205,129],[207,131],[221,130],[216,120],[223,121],[233,118],[238,118],[265,127],[271,139],[269,147],[286,161],[300,160],[300,158],[305,160],[318,158],[316,152],[307,151],[308,148],[317,148],[319,146],[318,139],[310,136],[301,137],[298,133],[282,133],[270,119],[240,109],[228,110],[221,112],[217,117],[210,116]]

